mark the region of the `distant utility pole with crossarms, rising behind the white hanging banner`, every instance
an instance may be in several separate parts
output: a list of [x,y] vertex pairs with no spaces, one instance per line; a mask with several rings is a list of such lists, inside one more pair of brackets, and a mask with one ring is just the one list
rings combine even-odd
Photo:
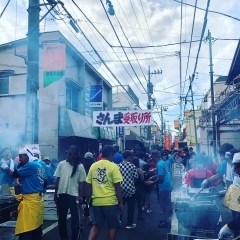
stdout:
[[[155,105],[155,99],[152,98],[153,94],[153,84],[151,83],[151,76],[152,75],[158,75],[162,74],[162,70],[155,70],[153,72],[150,71],[150,66],[148,66],[148,82],[147,82],[147,94],[148,94],[148,102],[147,102],[147,109],[152,109],[152,106],[154,107]],[[149,139],[149,144],[151,145],[151,126],[148,127],[148,139]],[[151,149],[151,146],[150,146]]]

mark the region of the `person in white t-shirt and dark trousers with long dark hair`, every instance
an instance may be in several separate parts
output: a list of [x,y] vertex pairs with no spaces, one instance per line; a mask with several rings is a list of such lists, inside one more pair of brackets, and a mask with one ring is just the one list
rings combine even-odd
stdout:
[[58,208],[58,228],[61,240],[67,240],[67,213],[70,208],[72,240],[80,240],[79,202],[82,202],[82,185],[86,172],[80,163],[79,148],[71,146],[67,160],[58,164],[54,176],[57,177],[54,201]]

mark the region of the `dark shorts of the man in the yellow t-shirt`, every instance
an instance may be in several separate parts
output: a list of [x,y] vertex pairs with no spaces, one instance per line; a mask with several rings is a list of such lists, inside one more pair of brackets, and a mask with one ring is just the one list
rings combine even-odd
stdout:
[[108,228],[120,227],[120,211],[118,205],[93,206],[93,225],[102,228],[106,220]]

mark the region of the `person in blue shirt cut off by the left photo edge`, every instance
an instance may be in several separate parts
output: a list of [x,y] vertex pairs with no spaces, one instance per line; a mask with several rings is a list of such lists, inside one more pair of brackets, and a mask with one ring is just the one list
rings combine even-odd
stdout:
[[9,192],[12,195],[15,195],[15,189],[16,186],[16,180],[14,177],[9,175],[8,171],[6,171],[6,168],[11,169],[14,171],[17,169],[18,163],[12,160],[12,151],[9,148],[5,148],[2,151],[3,158],[0,160],[0,185],[7,184],[9,186]]

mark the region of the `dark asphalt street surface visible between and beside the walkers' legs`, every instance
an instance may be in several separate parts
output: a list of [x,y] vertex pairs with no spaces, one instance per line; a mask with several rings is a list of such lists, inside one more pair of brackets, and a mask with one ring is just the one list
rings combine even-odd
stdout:
[[[170,229],[160,229],[157,227],[159,220],[163,219],[162,214],[160,213],[160,207],[157,203],[157,197],[155,192],[151,194],[151,213],[146,213],[143,211],[143,217],[145,220],[138,221],[136,217],[136,210],[135,209],[135,223],[137,227],[135,229],[126,229],[126,211],[127,205],[124,208],[124,215],[122,219],[122,226],[121,228],[117,229],[117,240],[162,240],[167,239],[167,233],[170,232]],[[71,219],[68,219],[68,231],[69,236],[71,236]],[[56,224],[55,224],[56,225]],[[87,226],[87,223],[84,222],[84,230],[81,234],[81,240],[87,240],[88,234],[91,227]],[[43,235],[42,240],[57,240],[58,238],[58,227],[55,226],[52,230],[48,231]],[[71,239],[71,238],[69,238]],[[104,228],[99,233],[96,240],[107,240],[107,227]]]

